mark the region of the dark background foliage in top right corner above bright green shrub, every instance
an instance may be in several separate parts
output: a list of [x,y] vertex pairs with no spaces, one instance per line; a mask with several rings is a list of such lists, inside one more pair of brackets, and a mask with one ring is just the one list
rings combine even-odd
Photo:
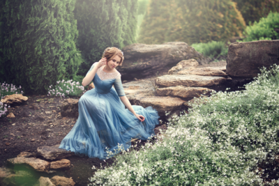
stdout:
[[232,0],[237,3],[246,24],[258,22],[261,17],[266,17],[270,11],[279,11],[279,0]]

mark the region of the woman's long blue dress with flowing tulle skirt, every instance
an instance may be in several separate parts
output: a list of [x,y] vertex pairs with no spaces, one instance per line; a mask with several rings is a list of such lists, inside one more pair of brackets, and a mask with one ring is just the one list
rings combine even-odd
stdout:
[[77,122],[59,148],[105,160],[119,153],[119,147],[130,148],[132,138],[146,140],[155,134],[158,111],[133,105],[135,112],[145,117],[144,122],[138,120],[119,99],[125,95],[119,72],[109,79],[102,78],[107,76],[104,73],[103,69],[98,69],[93,78],[95,88],[80,98]]

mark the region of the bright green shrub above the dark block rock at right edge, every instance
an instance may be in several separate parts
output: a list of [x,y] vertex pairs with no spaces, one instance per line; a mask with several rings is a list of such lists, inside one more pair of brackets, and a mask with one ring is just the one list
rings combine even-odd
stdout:
[[267,17],[262,17],[259,22],[247,26],[243,35],[246,38],[243,42],[253,40],[278,40],[279,33],[275,29],[279,30],[279,13],[269,13]]

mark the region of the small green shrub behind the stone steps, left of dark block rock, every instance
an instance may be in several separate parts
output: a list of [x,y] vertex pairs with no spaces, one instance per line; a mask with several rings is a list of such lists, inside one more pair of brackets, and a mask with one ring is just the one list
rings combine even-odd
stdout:
[[191,47],[204,56],[212,58],[218,58],[219,56],[227,56],[228,48],[225,47],[225,42],[222,41],[211,41],[207,43],[194,43]]

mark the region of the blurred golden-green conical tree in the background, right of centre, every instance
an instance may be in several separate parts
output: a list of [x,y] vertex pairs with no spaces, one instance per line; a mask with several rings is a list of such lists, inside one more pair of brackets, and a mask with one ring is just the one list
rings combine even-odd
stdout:
[[242,36],[246,24],[236,3],[227,0],[151,0],[139,42],[188,44]]

